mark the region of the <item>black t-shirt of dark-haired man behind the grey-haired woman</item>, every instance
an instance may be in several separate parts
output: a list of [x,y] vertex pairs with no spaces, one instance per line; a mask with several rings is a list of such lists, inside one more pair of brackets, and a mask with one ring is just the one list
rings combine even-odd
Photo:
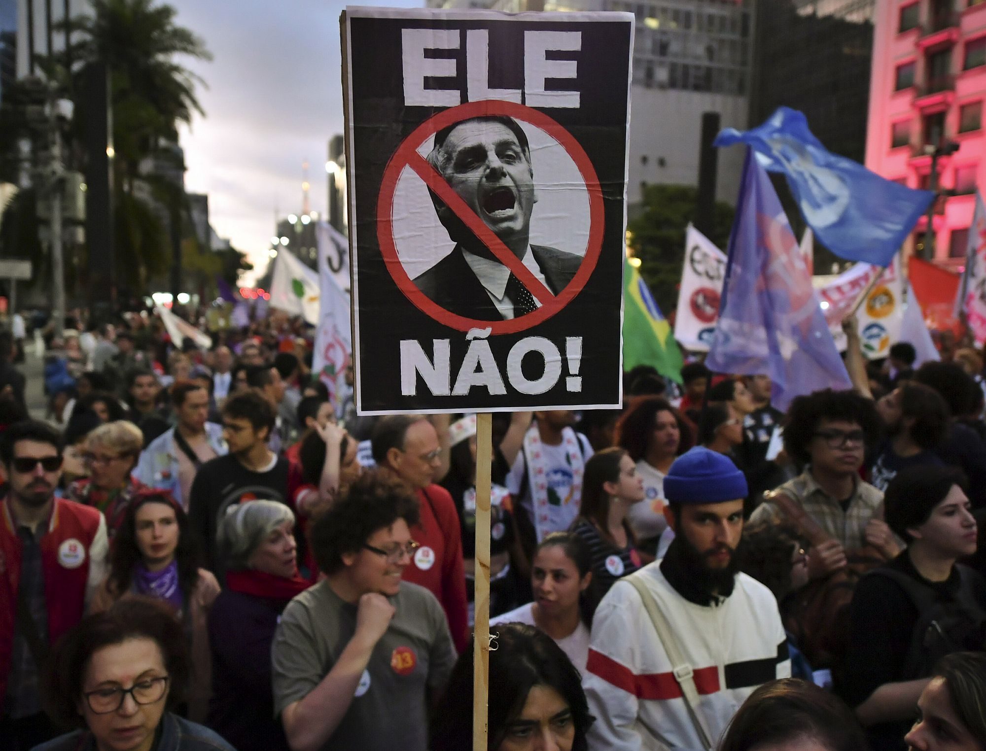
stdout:
[[232,454],[217,456],[199,467],[188,494],[188,516],[199,535],[208,569],[216,572],[222,568],[215,560],[216,531],[230,504],[265,500],[292,506],[288,498],[289,470],[288,460],[279,456],[268,471],[252,472]]

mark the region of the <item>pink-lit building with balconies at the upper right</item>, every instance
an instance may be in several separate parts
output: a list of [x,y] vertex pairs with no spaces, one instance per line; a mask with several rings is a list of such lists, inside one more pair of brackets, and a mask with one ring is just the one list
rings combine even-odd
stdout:
[[[929,187],[937,160],[935,260],[960,265],[976,187],[986,183],[986,2],[877,0],[866,166],[910,187]],[[919,220],[905,251],[922,253]]]

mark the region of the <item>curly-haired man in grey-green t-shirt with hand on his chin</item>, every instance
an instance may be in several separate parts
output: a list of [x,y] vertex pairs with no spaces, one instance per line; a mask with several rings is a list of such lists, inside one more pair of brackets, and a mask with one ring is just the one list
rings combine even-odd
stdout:
[[427,748],[428,709],[456,651],[442,606],[404,578],[422,549],[418,522],[418,500],[380,472],[317,518],[325,578],[288,604],[271,648],[274,712],[292,748]]

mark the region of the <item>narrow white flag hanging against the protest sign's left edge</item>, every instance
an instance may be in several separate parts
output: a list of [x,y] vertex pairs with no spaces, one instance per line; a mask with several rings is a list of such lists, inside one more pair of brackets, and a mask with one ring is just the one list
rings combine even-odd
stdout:
[[336,272],[331,263],[332,257],[327,250],[328,248],[319,239],[320,312],[312,370],[328,386],[328,395],[333,404],[336,404],[336,393],[349,365],[353,344],[349,322],[349,296],[339,288]]

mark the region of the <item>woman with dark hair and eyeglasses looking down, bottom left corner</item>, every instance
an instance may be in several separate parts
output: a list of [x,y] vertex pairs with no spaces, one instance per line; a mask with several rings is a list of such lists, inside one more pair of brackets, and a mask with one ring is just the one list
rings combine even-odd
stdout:
[[52,651],[49,715],[77,729],[35,751],[235,751],[207,727],[174,714],[190,661],[181,626],[145,598],[87,616]]

